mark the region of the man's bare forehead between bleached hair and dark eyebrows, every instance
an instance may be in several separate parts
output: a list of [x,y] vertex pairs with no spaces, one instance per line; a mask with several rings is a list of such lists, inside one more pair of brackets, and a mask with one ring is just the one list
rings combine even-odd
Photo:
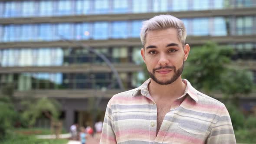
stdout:
[[177,43],[181,45],[178,39],[177,29],[175,28],[148,31],[145,40],[145,46],[167,43]]

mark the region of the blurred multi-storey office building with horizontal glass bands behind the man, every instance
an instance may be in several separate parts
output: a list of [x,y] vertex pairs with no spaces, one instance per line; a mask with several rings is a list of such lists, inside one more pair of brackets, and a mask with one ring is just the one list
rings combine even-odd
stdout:
[[120,90],[102,59],[63,38],[104,54],[131,89],[143,77],[141,22],[158,14],[183,20],[191,47],[209,39],[232,46],[233,59],[250,63],[256,82],[255,0],[1,0],[0,87],[13,84],[17,97],[33,92],[57,98],[68,128],[82,121],[79,102],[86,105],[107,88],[105,110]]

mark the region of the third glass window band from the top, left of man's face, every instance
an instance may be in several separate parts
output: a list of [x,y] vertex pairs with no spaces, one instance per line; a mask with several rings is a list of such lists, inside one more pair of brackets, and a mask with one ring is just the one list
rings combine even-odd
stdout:
[[[141,64],[141,48],[97,48],[113,63]],[[0,66],[62,66],[83,63],[105,63],[100,57],[82,48],[0,49]]]

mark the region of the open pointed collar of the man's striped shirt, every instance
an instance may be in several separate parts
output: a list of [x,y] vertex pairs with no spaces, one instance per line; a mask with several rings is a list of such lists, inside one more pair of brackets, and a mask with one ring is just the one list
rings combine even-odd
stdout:
[[[150,82],[151,82],[151,78],[146,80],[141,86],[136,88],[132,96],[143,95],[148,98],[151,97],[148,91],[148,84]],[[197,90],[190,84],[190,82],[187,79],[182,79],[182,82],[184,82],[187,86],[186,86],[184,95],[182,95],[180,98],[183,98],[185,95],[188,94],[194,101],[198,102]]]

